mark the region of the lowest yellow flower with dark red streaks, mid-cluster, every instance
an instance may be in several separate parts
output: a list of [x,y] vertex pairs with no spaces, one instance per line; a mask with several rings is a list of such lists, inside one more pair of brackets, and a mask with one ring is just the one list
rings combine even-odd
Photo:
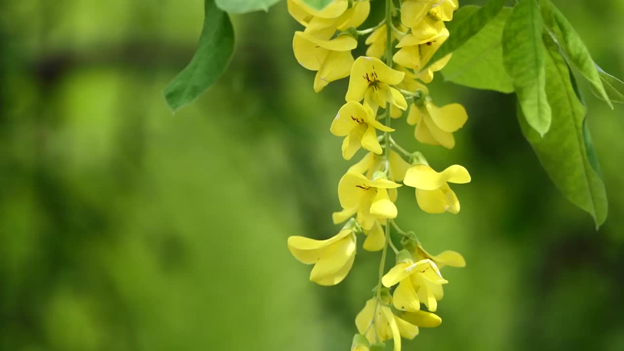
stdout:
[[338,200],[343,209],[357,208],[359,224],[370,230],[378,219],[396,218],[396,205],[390,200],[388,189],[400,186],[383,177],[369,180],[348,171],[338,183]]

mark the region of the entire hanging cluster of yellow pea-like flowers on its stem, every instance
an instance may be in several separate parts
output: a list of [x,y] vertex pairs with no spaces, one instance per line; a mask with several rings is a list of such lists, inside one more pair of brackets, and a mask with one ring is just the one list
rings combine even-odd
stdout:
[[[454,251],[429,254],[416,235],[400,229],[394,219],[397,188],[402,185],[415,189],[424,212],[457,214],[459,200],[449,183],[470,182],[468,171],[453,165],[436,172],[421,152],[407,152],[391,137],[392,119],[408,111],[407,123],[415,126],[417,141],[447,149],[455,146],[453,132],[466,123],[466,110],[459,104],[436,107],[424,84],[451,59],[449,55],[429,62],[449,37],[445,22],[451,21],[459,4],[457,0],[402,0],[397,8],[398,1],[385,1],[383,21],[358,31],[371,12],[369,0],[334,0],[320,11],[305,0],[288,0],[291,16],[305,27],[295,32],[293,51],[301,66],[316,71],[314,91],[349,77],[346,104],[329,128],[344,137],[343,158],[351,159],[360,148],[368,151],[339,181],[343,209],[334,212],[333,222],[346,222],[339,233],[326,240],[288,238],[295,258],[314,265],[310,280],[320,285],[345,279],[353,267],[359,235],[366,237],[364,250],[382,251],[378,285],[356,317],[359,334],[352,350],[358,351],[374,350],[388,340],[399,351],[401,339],[413,339],[419,327],[440,325],[442,320],[432,312],[447,283],[441,269],[466,265]],[[366,56],[354,59],[351,51],[364,34],[369,34]],[[390,239],[391,227],[403,236],[400,251]],[[388,248],[396,254],[396,265],[385,272]]]

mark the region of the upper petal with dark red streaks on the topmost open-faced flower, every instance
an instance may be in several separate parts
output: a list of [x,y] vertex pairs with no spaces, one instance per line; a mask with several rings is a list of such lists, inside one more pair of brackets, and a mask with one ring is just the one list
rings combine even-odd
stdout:
[[351,67],[351,78],[346,94],[346,101],[362,101],[369,84],[381,82],[389,85],[399,84],[404,72],[386,66],[376,57],[360,56]]

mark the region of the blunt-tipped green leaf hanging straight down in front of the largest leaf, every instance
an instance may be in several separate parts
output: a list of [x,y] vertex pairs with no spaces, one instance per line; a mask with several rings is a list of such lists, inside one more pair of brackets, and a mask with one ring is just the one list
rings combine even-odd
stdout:
[[536,0],[519,0],[503,29],[503,64],[522,112],[541,136],[550,128],[546,99],[542,16]]

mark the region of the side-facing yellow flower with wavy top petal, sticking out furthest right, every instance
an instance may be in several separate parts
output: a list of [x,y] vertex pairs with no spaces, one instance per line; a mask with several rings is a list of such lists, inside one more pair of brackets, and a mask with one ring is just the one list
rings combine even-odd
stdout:
[[427,164],[416,164],[407,170],[403,184],[416,188],[416,202],[428,213],[459,212],[457,195],[449,187],[449,182],[466,184],[470,174],[466,168],[453,165],[442,172],[434,171]]

